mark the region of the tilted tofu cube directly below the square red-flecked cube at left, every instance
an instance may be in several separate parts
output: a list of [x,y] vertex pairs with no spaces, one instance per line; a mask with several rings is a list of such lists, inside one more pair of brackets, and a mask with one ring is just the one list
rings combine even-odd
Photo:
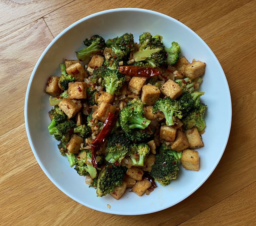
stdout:
[[68,119],[70,119],[73,118],[76,113],[82,109],[82,104],[81,101],[65,98],[61,100],[59,107],[68,116]]

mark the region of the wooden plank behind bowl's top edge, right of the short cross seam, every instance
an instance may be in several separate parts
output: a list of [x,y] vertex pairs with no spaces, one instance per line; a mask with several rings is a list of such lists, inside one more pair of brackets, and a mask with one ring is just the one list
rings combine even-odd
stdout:
[[[92,13],[100,10],[108,10],[112,8],[144,8],[153,11],[158,11],[179,19],[182,23],[189,26],[192,30],[197,30],[210,22],[222,17],[232,10],[250,2],[251,0],[242,1],[118,1],[113,0],[111,4],[108,1],[92,0],[84,4],[83,0],[75,0],[60,9],[44,16],[46,24],[49,26],[54,37],[63,29],[74,23],[75,21],[84,18]],[[95,7],[97,5],[97,7]],[[117,7],[113,7],[117,6]],[[202,10],[204,9],[204,10]]]

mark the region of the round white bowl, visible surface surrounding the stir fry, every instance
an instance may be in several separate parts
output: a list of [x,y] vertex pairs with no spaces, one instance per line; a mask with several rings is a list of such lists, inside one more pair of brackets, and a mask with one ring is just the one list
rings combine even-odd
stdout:
[[[208,105],[205,115],[204,147],[198,149],[198,172],[180,169],[178,179],[168,186],[158,187],[150,195],[137,196],[133,192],[115,200],[107,195],[96,197],[95,189],[85,185],[85,178],[69,167],[61,156],[57,141],[49,135],[49,96],[44,93],[49,76],[60,75],[59,64],[64,59],[76,59],[75,51],[83,48],[83,41],[94,34],[108,38],[131,32],[135,41],[143,32],[160,34],[166,46],[177,41],[180,56],[206,62],[206,71],[200,89],[201,98]],[[221,112],[221,114],[220,114]],[[224,113],[224,114],[222,114]],[[164,14],[144,9],[113,9],[87,16],[62,31],[44,50],[36,63],[28,83],[25,100],[25,123],[28,140],[40,167],[62,192],[73,200],[106,213],[139,215],[171,207],[196,191],[211,175],[226,147],[231,126],[231,99],[225,74],[217,58],[205,42],[181,22]],[[107,204],[111,206],[109,209]],[[139,208],[138,208],[139,207]]]

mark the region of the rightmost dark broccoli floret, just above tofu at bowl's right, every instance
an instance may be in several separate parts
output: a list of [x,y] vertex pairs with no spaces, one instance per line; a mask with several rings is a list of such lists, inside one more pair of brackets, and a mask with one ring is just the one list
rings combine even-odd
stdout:
[[190,129],[196,126],[198,131],[202,131],[205,128],[204,113],[207,105],[199,103],[196,109],[189,112],[188,116],[182,118],[184,129]]

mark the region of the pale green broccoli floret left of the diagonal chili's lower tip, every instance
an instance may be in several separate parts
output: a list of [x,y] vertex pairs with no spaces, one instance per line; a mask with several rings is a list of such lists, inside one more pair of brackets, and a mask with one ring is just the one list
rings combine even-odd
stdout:
[[[92,156],[90,154],[90,151],[86,152],[85,150],[83,150],[79,153],[79,156],[79,158],[76,158],[76,172],[80,176],[90,175],[90,177],[94,179],[97,176],[97,170],[92,166],[92,164],[90,164],[90,162],[92,162]],[[81,156],[84,156],[84,158],[81,158]]]

